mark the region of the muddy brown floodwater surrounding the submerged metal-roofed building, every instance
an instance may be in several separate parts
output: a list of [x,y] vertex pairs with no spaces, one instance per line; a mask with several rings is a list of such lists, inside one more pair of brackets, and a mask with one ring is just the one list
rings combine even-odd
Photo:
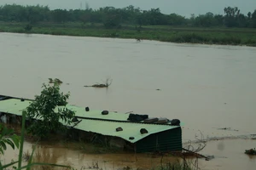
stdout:
[[[0,77],[0,94],[31,99],[48,78],[59,78],[61,89],[71,93],[70,104],[178,118],[184,122],[183,142],[195,140],[200,131],[205,139],[256,133],[256,48],[1,33]],[[108,77],[113,79],[108,89],[84,88]],[[255,159],[243,154],[253,147],[251,139],[210,141],[203,153],[216,158],[200,163],[203,169],[253,169]],[[62,153],[58,162],[75,167],[94,160],[103,167],[156,161],[50,148]],[[15,156],[9,151],[4,160]]]

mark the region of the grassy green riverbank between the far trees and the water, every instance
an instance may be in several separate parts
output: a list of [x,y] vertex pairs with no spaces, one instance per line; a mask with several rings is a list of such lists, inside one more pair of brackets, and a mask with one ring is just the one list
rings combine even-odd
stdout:
[[26,23],[0,22],[0,32],[34,33],[77,37],[131,38],[137,41],[188,42],[256,47],[256,29],[248,28],[195,28],[172,26],[121,26],[106,29],[102,24],[84,23]]

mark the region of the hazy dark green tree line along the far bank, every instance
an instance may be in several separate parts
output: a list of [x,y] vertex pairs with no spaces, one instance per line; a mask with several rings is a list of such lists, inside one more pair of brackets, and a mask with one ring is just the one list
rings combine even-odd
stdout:
[[224,8],[223,14],[191,14],[185,18],[180,14],[162,14],[160,8],[142,10],[130,5],[125,8],[104,7],[98,9],[53,9],[48,6],[21,6],[18,4],[5,4],[0,6],[0,21],[27,22],[84,22],[102,23],[106,28],[125,25],[135,26],[226,26],[256,28],[256,9],[247,14],[241,14],[237,7]]

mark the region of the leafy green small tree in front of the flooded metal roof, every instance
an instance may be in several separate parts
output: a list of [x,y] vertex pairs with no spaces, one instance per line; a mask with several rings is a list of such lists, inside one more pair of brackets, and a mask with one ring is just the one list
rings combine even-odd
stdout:
[[[60,92],[60,85],[43,85],[41,95],[36,96],[31,105],[27,107],[27,116],[32,121],[28,133],[44,139],[50,133],[63,132],[71,123],[74,111],[67,109],[67,99],[70,94]],[[62,106],[55,111],[57,106]],[[34,119],[38,120],[34,120]],[[64,125],[65,124],[65,125]]]

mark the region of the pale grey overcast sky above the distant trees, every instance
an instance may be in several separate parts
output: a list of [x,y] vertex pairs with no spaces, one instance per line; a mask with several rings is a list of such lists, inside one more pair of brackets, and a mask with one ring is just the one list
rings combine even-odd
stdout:
[[256,9],[256,0],[0,0],[0,5],[6,3],[21,5],[48,5],[50,9],[55,8],[85,8],[87,2],[90,8],[113,6],[123,8],[129,5],[141,9],[160,8],[164,14],[181,14],[189,17],[190,14],[224,14],[224,7],[238,7],[242,14],[253,12]]

